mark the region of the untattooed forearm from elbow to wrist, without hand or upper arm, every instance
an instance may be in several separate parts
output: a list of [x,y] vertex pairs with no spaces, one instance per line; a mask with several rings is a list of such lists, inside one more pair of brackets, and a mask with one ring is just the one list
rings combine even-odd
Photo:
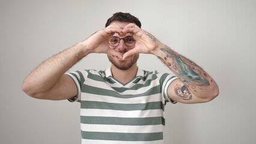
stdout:
[[23,81],[22,89],[28,95],[49,91],[69,68],[88,55],[85,45],[78,43],[38,65]]

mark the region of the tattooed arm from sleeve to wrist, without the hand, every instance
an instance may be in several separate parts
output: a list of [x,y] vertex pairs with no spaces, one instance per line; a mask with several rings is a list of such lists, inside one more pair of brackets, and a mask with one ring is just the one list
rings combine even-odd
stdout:
[[219,88],[215,80],[194,62],[165,45],[160,46],[156,56],[179,77],[168,88],[172,100],[204,103],[218,96]]

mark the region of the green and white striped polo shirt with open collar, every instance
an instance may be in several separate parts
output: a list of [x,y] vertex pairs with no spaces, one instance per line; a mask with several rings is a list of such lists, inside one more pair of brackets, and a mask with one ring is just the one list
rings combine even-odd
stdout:
[[164,107],[175,74],[144,71],[123,84],[105,71],[66,73],[76,83],[81,103],[82,143],[163,143]]

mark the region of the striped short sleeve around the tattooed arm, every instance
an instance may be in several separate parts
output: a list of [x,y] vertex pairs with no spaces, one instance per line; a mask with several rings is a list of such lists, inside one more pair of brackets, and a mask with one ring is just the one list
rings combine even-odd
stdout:
[[177,101],[173,101],[173,100],[171,100],[171,98],[169,98],[168,88],[169,88],[169,85],[171,85],[171,83],[175,79],[178,79],[178,77],[175,76],[174,73],[165,73],[165,74],[162,74],[162,76],[160,76],[160,85],[162,86],[163,97],[165,98],[165,100],[167,102],[171,102],[173,104],[177,103]]

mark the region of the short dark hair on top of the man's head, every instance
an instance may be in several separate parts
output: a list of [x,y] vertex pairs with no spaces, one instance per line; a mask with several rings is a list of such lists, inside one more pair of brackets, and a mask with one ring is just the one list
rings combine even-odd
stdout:
[[107,20],[105,27],[109,26],[110,23],[114,21],[135,23],[137,26],[139,26],[139,28],[141,28],[141,22],[139,22],[139,19],[132,16],[130,13],[114,13],[113,16]]

